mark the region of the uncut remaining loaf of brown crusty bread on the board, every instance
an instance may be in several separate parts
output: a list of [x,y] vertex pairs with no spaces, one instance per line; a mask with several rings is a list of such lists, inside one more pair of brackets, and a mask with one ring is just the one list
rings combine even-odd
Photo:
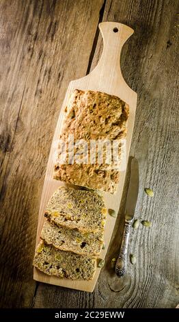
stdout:
[[[126,121],[128,119],[128,105],[119,97],[104,92],[92,90],[74,90],[70,95],[64,114],[64,126],[59,135],[59,149],[55,162],[54,178],[70,184],[85,186],[114,193],[120,180],[120,162],[122,160],[122,142],[126,137]],[[74,140],[74,156],[71,162],[71,148],[69,135]],[[88,158],[81,158],[81,151],[77,143],[85,140]],[[107,162],[109,153],[102,150],[103,160],[90,161],[92,140],[99,147],[99,141],[119,142],[115,156]],[[65,145],[65,148],[64,148]],[[98,149],[98,148],[97,148]],[[110,149],[113,151],[113,148]],[[96,154],[96,153],[95,153]],[[65,158],[64,158],[65,156]],[[78,156],[78,158],[77,158]],[[64,158],[64,160],[63,160]]]

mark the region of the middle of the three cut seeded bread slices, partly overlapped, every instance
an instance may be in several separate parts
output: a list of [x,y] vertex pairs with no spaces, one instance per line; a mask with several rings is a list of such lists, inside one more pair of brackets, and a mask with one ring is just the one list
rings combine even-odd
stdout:
[[96,233],[81,233],[78,230],[69,230],[65,227],[44,222],[40,238],[46,244],[53,245],[63,251],[72,251],[88,256],[99,255],[103,244],[104,230],[98,230]]

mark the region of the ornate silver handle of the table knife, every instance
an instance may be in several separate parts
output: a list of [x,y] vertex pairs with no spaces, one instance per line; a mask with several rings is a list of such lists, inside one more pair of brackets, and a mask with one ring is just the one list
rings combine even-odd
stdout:
[[125,220],[124,225],[124,233],[122,237],[122,245],[120,248],[120,255],[118,256],[118,260],[115,264],[115,273],[122,277],[124,273],[126,272],[127,267],[127,255],[128,255],[128,240],[130,235],[130,229],[132,226],[133,221],[127,221]]

